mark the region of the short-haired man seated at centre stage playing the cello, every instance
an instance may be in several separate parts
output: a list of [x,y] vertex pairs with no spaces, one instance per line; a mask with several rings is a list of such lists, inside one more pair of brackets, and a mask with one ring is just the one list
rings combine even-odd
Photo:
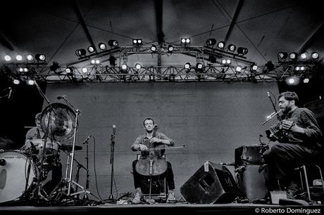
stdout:
[[[151,118],[144,119],[144,129],[146,133],[144,135],[140,135],[137,137],[135,143],[132,144],[132,150],[133,151],[141,151],[141,157],[146,157],[149,155],[149,152],[147,149],[149,148],[149,145],[154,144],[165,144],[168,146],[172,146],[175,143],[173,140],[168,138],[165,134],[160,132],[155,132],[154,129],[156,128],[156,125],[154,124],[154,120]],[[155,136],[154,136],[155,135]],[[162,156],[161,152],[158,152],[158,156]],[[136,171],[136,164],[137,159],[132,162],[132,169],[133,169],[133,176],[134,176],[134,185],[135,185],[135,197],[132,200],[132,204],[139,204],[141,202],[142,197],[142,179],[144,176],[140,175]],[[168,197],[167,197],[167,203],[168,202],[175,202],[175,195],[173,190],[175,189],[175,182],[173,179],[173,170],[171,167],[170,162],[167,162],[168,168],[166,170],[166,183],[168,184]]]

